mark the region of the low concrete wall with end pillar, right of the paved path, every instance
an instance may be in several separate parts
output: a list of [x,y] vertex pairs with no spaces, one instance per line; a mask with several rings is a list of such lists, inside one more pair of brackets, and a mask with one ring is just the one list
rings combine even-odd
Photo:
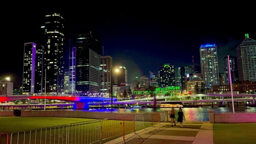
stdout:
[[210,123],[255,123],[256,113],[213,113],[209,111]]

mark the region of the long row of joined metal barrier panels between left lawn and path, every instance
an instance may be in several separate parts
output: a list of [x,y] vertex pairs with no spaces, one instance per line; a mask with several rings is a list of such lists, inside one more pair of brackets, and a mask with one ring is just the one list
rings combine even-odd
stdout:
[[163,122],[164,115],[164,112],[136,113],[117,118],[71,123],[69,126],[13,132],[10,144],[92,144],[118,136],[123,136],[125,141],[125,134]]

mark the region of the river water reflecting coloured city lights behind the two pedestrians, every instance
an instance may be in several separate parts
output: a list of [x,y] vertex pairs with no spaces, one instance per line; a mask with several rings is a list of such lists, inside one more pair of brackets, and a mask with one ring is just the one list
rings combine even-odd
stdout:
[[[171,111],[171,108],[147,108],[147,109],[124,109],[124,108],[114,108],[113,111],[118,112],[158,112],[158,111]],[[179,108],[174,108],[175,117],[177,120],[177,113]],[[214,110],[214,112],[232,112],[232,107],[202,107],[202,108],[182,108],[187,121],[209,121],[209,110]],[[98,111],[98,112],[111,112],[111,108],[99,108],[99,109],[89,109],[84,111]],[[235,107],[235,112],[256,112],[255,107]]]

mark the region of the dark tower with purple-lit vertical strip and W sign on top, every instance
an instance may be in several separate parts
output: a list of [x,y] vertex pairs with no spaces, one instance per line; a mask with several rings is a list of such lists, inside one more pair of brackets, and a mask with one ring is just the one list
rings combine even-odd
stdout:
[[24,44],[22,93],[42,93],[44,47],[35,43]]

